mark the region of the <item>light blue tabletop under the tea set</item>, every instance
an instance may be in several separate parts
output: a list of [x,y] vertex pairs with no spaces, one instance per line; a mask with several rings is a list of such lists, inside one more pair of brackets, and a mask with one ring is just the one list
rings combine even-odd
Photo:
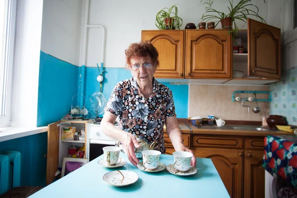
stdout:
[[[50,184],[30,198],[230,198],[211,159],[197,158],[197,173],[191,176],[176,176],[164,169],[160,172],[144,172],[128,162],[118,168],[105,168],[98,164],[100,155],[93,161]],[[162,154],[160,161],[172,164],[173,155]],[[130,170],[139,179],[125,187],[114,187],[103,182],[103,175],[114,170]]]

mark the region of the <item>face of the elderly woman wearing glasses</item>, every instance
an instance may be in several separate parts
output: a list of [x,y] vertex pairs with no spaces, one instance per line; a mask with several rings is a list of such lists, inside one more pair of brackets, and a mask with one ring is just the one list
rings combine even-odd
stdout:
[[[139,65],[138,70],[134,71],[131,68],[132,75],[135,77],[139,86],[149,86],[152,85],[153,74],[156,71],[155,65],[153,65],[152,69],[145,69],[144,64],[151,63],[153,64],[149,55],[147,56],[138,56],[135,58],[131,58],[131,65]],[[133,67],[135,69],[135,67]]]

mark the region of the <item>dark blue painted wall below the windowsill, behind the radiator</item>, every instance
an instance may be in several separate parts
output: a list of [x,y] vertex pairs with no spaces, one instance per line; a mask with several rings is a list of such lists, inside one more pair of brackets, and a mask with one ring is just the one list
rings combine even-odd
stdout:
[[46,186],[48,134],[40,133],[0,142],[0,153],[21,152],[21,186]]

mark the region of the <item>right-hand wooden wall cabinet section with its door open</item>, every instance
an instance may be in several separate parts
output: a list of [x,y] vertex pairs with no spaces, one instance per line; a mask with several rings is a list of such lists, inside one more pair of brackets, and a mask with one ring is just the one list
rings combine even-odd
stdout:
[[[281,78],[281,30],[247,19],[247,30],[234,35],[242,41],[247,53],[233,54],[233,70],[243,71],[243,78],[232,78],[224,84],[268,84]],[[233,46],[238,45],[236,40]],[[250,78],[252,77],[252,78]]]

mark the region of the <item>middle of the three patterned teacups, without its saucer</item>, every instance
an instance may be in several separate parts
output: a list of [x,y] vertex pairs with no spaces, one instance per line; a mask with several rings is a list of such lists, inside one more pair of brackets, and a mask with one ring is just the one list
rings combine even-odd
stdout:
[[160,161],[161,152],[158,150],[143,150],[143,164],[147,170],[155,170]]

